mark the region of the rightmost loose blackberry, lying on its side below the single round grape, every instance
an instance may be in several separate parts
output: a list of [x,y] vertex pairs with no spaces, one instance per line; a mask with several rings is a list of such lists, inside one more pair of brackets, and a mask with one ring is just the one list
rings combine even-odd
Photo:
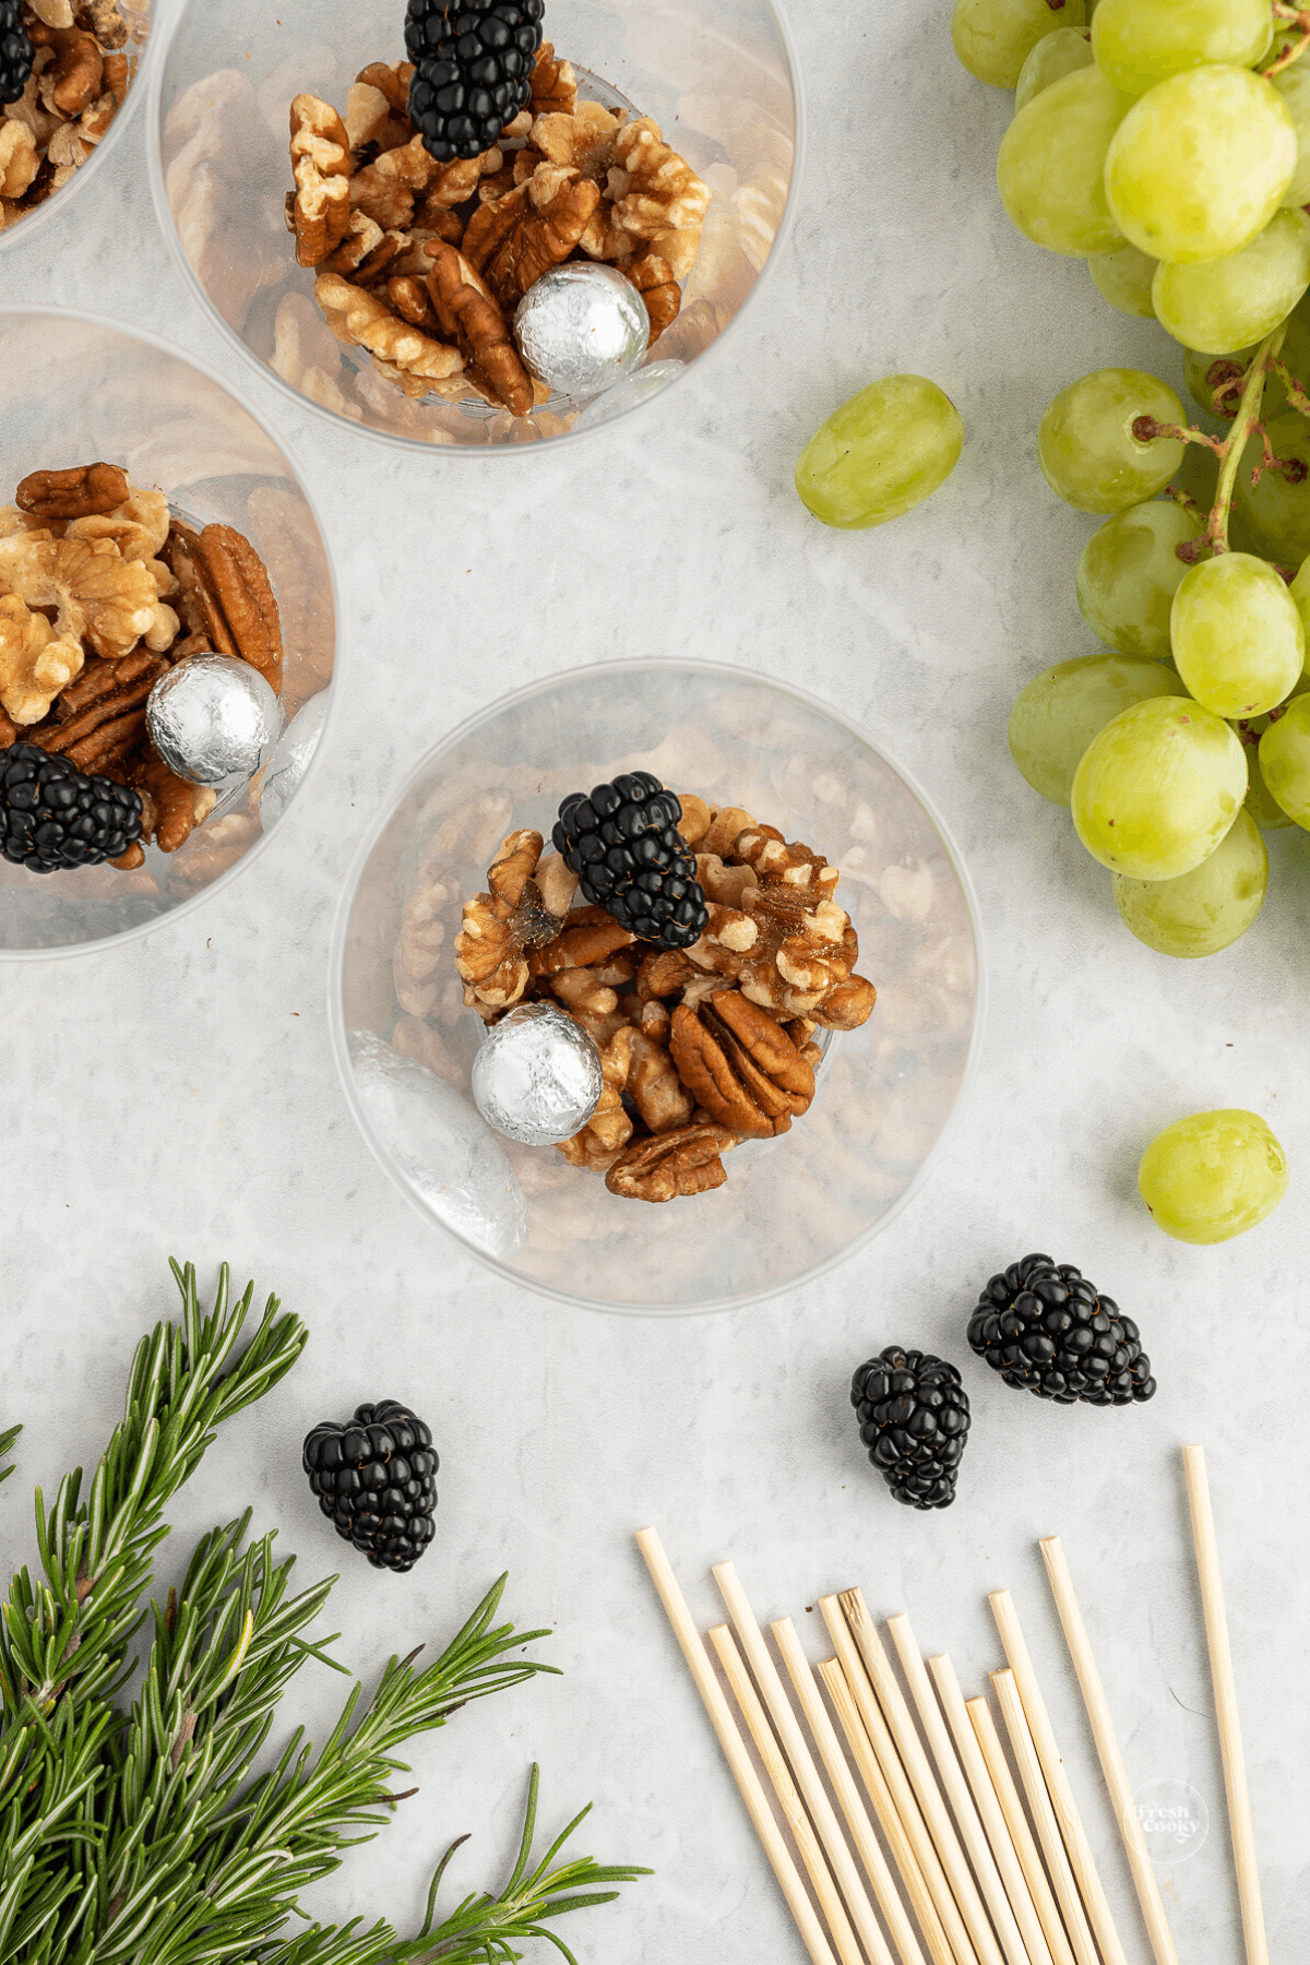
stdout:
[[1139,1405],[1155,1397],[1141,1332],[1072,1263],[1025,1256],[994,1275],[968,1319],[968,1342],[1019,1385],[1059,1405]]

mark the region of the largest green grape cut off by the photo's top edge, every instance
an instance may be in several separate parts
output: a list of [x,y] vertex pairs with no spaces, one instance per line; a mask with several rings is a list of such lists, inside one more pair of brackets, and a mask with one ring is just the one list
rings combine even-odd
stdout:
[[1092,29],[1096,67],[1129,96],[1212,61],[1253,69],[1271,41],[1269,0],[1106,0]]

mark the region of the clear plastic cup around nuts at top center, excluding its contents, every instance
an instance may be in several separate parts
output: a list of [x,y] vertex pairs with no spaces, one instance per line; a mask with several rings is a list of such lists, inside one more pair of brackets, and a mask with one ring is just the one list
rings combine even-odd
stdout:
[[359,0],[191,0],[181,14],[151,84],[149,169],[159,222],[210,318],[320,415],[416,448],[558,442],[680,381],[735,326],[795,210],[801,90],[772,0],[550,0],[546,33],[581,92],[654,116],[713,202],[682,314],[646,367],[587,405],[556,399],[530,417],[405,397],[332,336],[314,273],[295,261],[291,100],[308,92],[344,112],[363,67],[405,59],[401,26],[399,4]]

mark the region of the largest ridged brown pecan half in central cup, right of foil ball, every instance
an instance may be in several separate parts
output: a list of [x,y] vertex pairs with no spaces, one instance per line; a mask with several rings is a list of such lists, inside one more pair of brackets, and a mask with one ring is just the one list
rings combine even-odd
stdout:
[[713,1120],[752,1140],[788,1132],[809,1110],[815,1073],[768,1010],[717,990],[674,1010],[670,1053],[678,1077]]

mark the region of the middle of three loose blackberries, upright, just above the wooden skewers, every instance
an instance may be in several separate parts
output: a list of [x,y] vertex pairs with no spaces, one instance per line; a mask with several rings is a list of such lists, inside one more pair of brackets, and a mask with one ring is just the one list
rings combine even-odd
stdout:
[[896,1499],[951,1507],[968,1440],[968,1393],[955,1366],[888,1344],[850,1379],[850,1403],[868,1458]]

